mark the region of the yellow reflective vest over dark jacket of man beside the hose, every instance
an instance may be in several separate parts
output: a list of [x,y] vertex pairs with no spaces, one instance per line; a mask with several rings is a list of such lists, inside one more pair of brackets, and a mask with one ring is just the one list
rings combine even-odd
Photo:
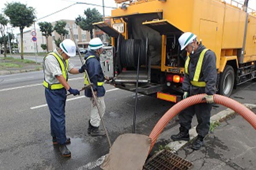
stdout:
[[[197,86],[197,87],[205,87],[206,83],[205,82],[198,82],[199,80],[199,76],[200,76],[200,73],[201,73],[201,68],[202,68],[202,65],[203,65],[203,60],[204,60],[204,54],[205,52],[207,51],[208,49],[204,49],[201,54],[200,54],[200,57],[198,59],[198,63],[196,65],[196,68],[195,68],[195,75],[194,75],[194,78],[192,81],[190,81],[190,83],[194,86]],[[189,74],[189,60],[190,60],[190,57],[188,56],[188,58],[186,59],[186,62],[185,62],[185,73],[186,74]]]

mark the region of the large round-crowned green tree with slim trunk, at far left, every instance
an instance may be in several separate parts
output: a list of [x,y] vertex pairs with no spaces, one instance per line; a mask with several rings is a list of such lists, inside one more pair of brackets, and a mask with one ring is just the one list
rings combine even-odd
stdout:
[[23,29],[31,26],[35,22],[35,9],[27,7],[26,4],[22,3],[7,3],[4,8],[4,13],[9,17],[10,23],[13,27],[20,28],[20,41],[21,41],[21,59],[23,57]]

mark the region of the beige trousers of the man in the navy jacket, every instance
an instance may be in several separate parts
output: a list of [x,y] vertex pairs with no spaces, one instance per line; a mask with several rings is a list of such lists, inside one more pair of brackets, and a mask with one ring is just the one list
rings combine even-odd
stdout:
[[[90,124],[93,125],[94,127],[99,127],[100,124],[100,116],[98,113],[98,109],[95,106],[93,106],[93,100],[92,98],[90,98],[91,100],[91,110],[90,110]],[[102,97],[97,97],[97,104],[99,106],[99,112],[101,114],[101,116],[103,117],[103,115],[105,114],[105,110],[106,110],[106,106],[105,106],[105,102],[104,102],[104,96]]]

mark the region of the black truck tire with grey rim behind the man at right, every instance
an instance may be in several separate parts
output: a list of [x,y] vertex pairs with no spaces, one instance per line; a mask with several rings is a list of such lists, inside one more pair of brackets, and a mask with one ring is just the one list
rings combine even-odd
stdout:
[[229,97],[233,91],[235,72],[231,65],[227,65],[220,75],[219,94]]

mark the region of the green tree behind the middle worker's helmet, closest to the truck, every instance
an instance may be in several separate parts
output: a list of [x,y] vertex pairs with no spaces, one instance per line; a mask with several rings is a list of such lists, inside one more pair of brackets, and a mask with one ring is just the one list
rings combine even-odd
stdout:
[[90,38],[93,39],[93,23],[102,21],[102,14],[96,8],[92,10],[87,8],[84,10],[86,18],[80,15],[76,18],[76,25],[78,25],[82,30],[90,31]]

